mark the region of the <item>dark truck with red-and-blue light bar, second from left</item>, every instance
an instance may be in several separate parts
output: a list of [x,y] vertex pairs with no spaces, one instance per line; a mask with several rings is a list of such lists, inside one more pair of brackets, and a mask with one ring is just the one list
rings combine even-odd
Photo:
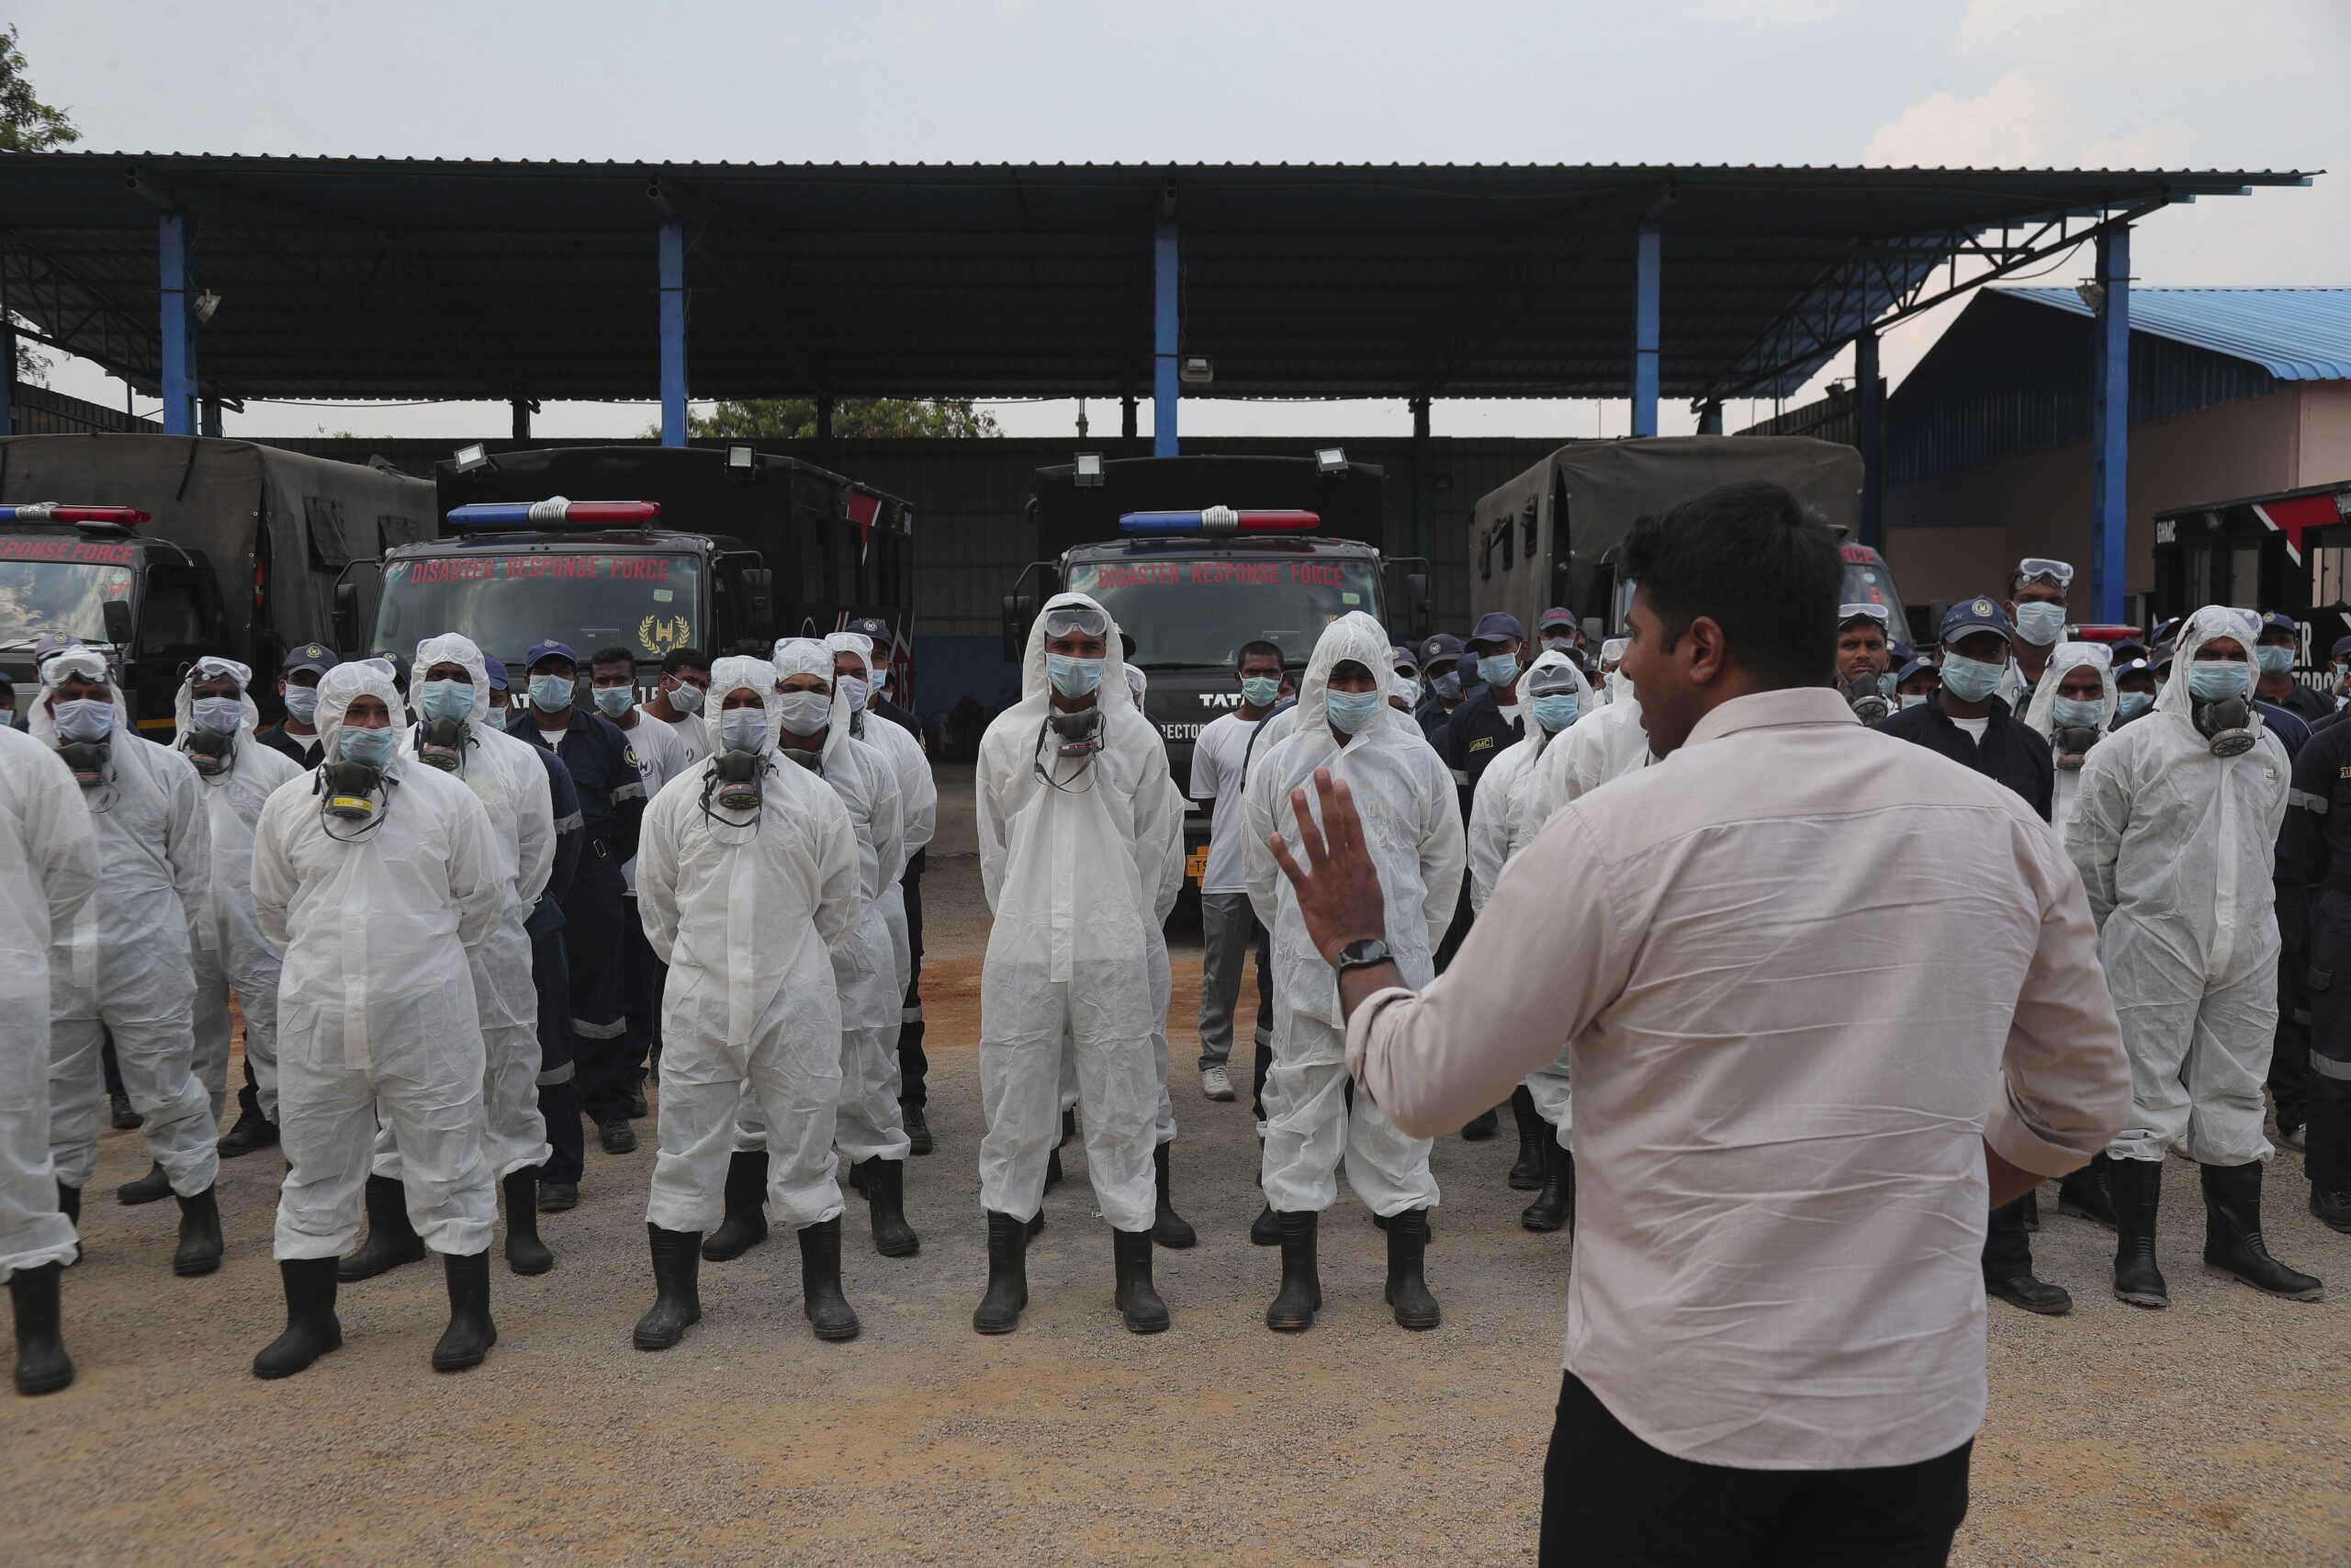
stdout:
[[682,646],[764,658],[877,616],[912,689],[915,510],[868,484],[752,447],[468,447],[435,494],[447,531],[367,562],[371,649],[463,632],[520,675],[534,642],[625,646],[649,689]]

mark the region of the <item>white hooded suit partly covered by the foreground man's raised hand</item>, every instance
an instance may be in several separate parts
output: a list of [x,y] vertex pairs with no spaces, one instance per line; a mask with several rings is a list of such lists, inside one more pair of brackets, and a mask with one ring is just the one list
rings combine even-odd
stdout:
[[1364,846],[1380,872],[1387,947],[1404,983],[1436,978],[1436,945],[1453,924],[1462,886],[1460,790],[1453,771],[1413,733],[1411,715],[1385,701],[1345,748],[1324,717],[1331,670],[1359,663],[1385,679],[1387,632],[1361,611],[1324,628],[1298,686],[1298,726],[1270,755],[1248,764],[1248,900],[1274,933],[1274,1065],[1265,1074],[1265,1201],[1274,1213],[1328,1208],[1338,1199],[1338,1164],[1375,1215],[1436,1204],[1429,1140],[1404,1135],[1371,1095],[1347,1105],[1347,1025],[1338,1006],[1338,971],[1314,950],[1288,877],[1267,839],[1298,844],[1291,790],[1314,799],[1314,769],[1354,792]]

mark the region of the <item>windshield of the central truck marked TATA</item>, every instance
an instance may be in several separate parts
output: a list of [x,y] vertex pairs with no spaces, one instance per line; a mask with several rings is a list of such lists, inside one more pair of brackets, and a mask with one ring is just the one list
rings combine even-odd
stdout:
[[1232,665],[1255,639],[1279,646],[1281,663],[1305,663],[1347,611],[1380,614],[1373,562],[1314,555],[1074,562],[1070,592],[1110,611],[1145,670]]

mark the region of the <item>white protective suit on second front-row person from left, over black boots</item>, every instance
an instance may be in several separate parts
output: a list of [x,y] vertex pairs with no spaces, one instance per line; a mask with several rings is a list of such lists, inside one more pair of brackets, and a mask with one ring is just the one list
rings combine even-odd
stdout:
[[343,717],[379,698],[407,712],[379,661],[327,670],[327,762],[280,785],[254,825],[254,914],[284,950],[277,987],[277,1126],[287,1180],[275,1255],[341,1258],[360,1234],[376,1121],[407,1166],[409,1222],[435,1253],[489,1248],[498,1218],[482,1154],[482,1020],[473,954],[513,898],[498,835],[456,778],[393,755],[376,818],[324,813]]

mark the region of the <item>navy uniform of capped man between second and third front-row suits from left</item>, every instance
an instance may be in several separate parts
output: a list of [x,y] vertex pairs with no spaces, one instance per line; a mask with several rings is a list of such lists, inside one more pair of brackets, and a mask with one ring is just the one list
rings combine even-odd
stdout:
[[[505,722],[505,733],[545,750],[531,712]],[[578,790],[581,853],[564,912],[564,959],[571,966],[571,1060],[578,1067],[581,1110],[597,1126],[628,1121],[630,1065],[625,959],[621,929],[625,884],[621,863],[637,853],[644,823],[644,778],[628,736],[604,715],[569,710],[555,748]]]

